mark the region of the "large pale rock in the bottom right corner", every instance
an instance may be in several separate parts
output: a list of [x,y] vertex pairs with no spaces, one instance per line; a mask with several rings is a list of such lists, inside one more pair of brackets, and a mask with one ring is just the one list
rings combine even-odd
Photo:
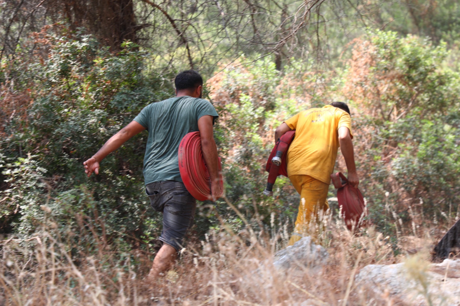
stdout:
[[460,260],[446,259],[429,265],[426,290],[421,281],[409,276],[404,263],[368,265],[356,276],[357,286],[365,286],[378,295],[386,292],[407,305],[460,306]]

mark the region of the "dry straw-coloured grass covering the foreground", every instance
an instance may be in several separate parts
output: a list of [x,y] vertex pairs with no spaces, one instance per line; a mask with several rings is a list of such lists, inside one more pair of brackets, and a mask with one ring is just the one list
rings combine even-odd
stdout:
[[272,222],[268,234],[244,222],[239,233],[222,223],[204,241],[189,243],[174,270],[153,286],[142,281],[152,254],[101,245],[91,255],[71,255],[53,226],[28,239],[11,237],[1,247],[0,305],[402,305],[355,284],[354,275],[368,264],[401,261],[437,238],[430,228],[418,228],[415,237],[411,224],[399,226],[402,253],[395,256],[389,237],[374,227],[353,235],[327,216],[313,230],[330,254],[328,264],[277,271],[273,255],[286,244],[285,227],[275,230]]

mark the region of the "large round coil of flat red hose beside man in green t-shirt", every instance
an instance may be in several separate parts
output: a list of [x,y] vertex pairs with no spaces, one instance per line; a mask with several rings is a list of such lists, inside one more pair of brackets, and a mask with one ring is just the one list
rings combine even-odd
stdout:
[[[211,178],[201,151],[200,132],[191,132],[184,136],[179,145],[179,172],[185,188],[199,201],[212,200]],[[220,195],[224,189],[222,165],[219,157]]]

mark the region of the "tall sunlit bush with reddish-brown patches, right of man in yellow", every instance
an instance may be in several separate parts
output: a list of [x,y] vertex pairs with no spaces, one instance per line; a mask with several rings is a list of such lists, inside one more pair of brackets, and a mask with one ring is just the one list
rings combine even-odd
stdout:
[[344,91],[360,109],[362,186],[379,222],[385,192],[402,216],[409,206],[424,213],[420,222],[457,213],[460,78],[445,67],[448,55],[444,44],[392,32],[356,44]]

